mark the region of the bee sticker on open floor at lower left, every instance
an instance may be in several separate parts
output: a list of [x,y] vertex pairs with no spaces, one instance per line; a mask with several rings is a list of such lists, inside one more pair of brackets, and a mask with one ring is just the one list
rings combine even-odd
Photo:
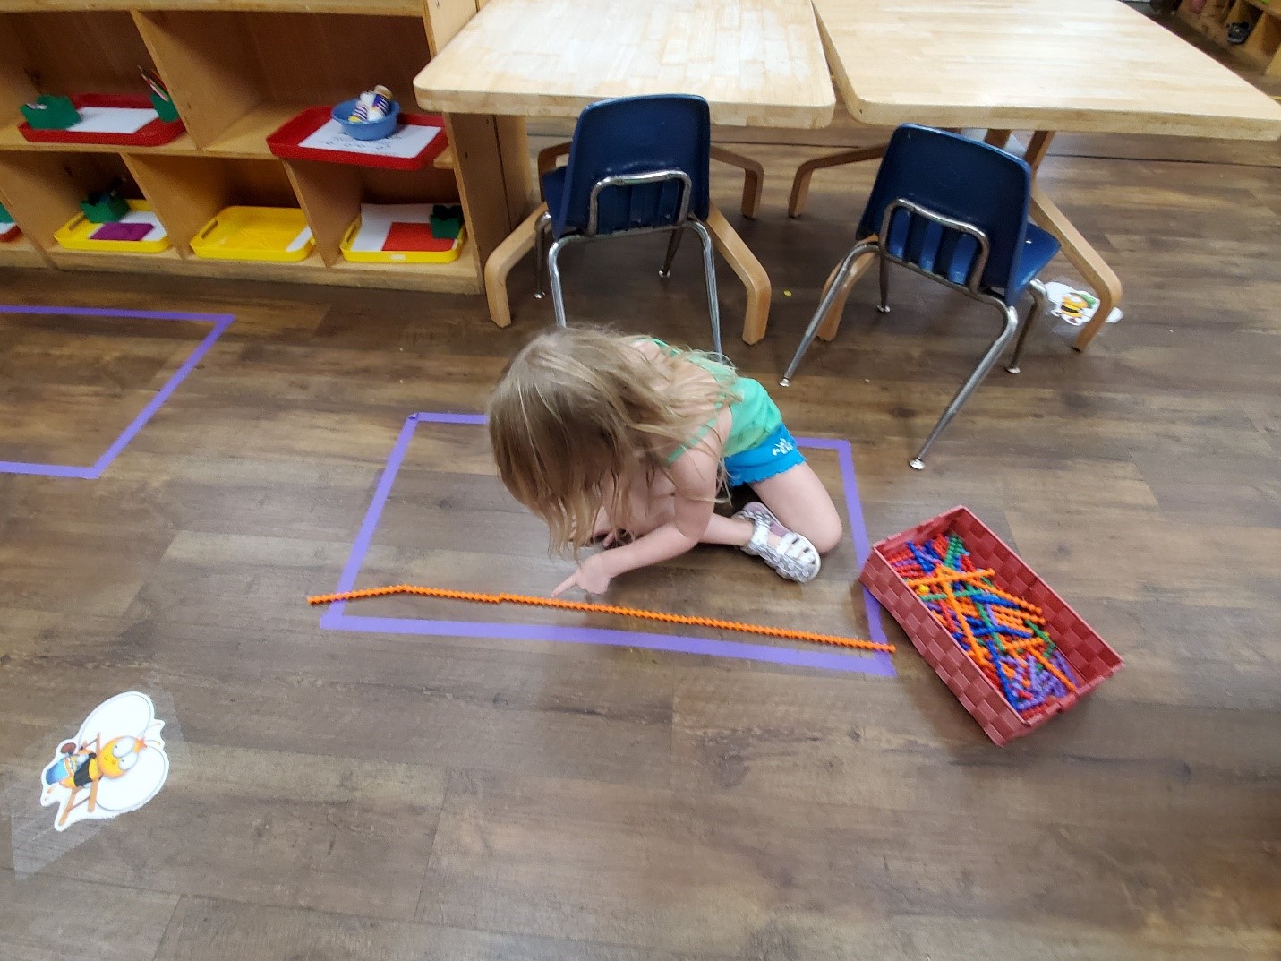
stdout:
[[137,691],[95,707],[41,775],[40,803],[58,805],[54,826],[136,811],[160,793],[169,776],[163,727],[151,698]]

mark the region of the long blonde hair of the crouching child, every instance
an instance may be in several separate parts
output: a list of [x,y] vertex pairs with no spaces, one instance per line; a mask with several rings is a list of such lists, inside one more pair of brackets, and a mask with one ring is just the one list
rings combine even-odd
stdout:
[[598,328],[539,334],[489,398],[498,475],[547,523],[553,551],[591,543],[602,506],[615,524],[626,518],[633,479],[667,473],[673,452],[706,443],[708,419],[739,400],[733,368],[670,347],[649,356],[642,341]]

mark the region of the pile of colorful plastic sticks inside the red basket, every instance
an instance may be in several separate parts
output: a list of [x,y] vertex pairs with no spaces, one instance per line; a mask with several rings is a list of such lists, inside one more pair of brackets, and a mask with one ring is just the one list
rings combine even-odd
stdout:
[[998,588],[994,570],[976,569],[954,530],[885,559],[1016,711],[1044,710],[1076,692],[1040,607]]

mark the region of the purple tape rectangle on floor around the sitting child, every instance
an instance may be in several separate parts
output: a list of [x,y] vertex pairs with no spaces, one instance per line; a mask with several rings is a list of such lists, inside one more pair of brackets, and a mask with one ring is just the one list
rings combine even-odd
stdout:
[[[374,497],[365,511],[365,519],[351,546],[351,554],[343,565],[342,575],[334,593],[352,591],[360,568],[369,554],[378,520],[391,496],[396,474],[405,461],[414,431],[419,424],[471,424],[485,423],[483,414],[442,414],[420,411],[405,419],[400,436],[392,447],[387,465],[383,468]],[[836,452],[840,464],[842,486],[845,491],[845,509],[849,514],[849,533],[854,543],[854,554],[860,566],[867,559],[870,542],[863,513],[858,501],[858,484],[854,479],[854,457],[849,441],[836,441],[822,437],[798,437],[801,447],[831,450]],[[888,643],[881,624],[881,607],[863,589],[867,605],[867,625],[872,641]],[[824,650],[796,650],[792,647],[772,647],[770,645],[742,643],[737,641],[714,641],[702,637],[679,634],[655,634],[637,630],[616,630],[612,628],[559,627],[552,624],[505,624],[498,621],[473,620],[424,620],[415,618],[365,618],[348,615],[347,602],[338,601],[320,616],[320,627],[330,630],[364,630],[379,634],[427,634],[434,637],[478,637],[510,641],[562,641],[575,645],[612,645],[615,647],[643,647],[651,651],[673,651],[676,653],[706,655],[711,657],[739,657],[767,664],[787,664],[801,668],[820,668],[826,670],[854,671],[880,677],[893,677],[894,664],[888,653],[869,652],[866,655],[835,653]]]

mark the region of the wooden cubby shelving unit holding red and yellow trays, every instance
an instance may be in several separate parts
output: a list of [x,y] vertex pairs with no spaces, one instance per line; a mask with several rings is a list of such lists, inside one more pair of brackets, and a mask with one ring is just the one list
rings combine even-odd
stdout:
[[[143,270],[357,287],[479,293],[489,251],[529,192],[524,127],[446,118],[448,149],[420,170],[281,160],[266,136],[300,110],[375,83],[402,109],[414,76],[477,0],[0,0],[0,202],[22,229],[0,268]],[[32,144],[18,108],[38,94],[140,94],[156,70],[187,133],[159,147]],[[61,249],[54,232],[114,176],[151,202],[164,254]],[[338,243],[361,202],[461,202],[468,241],[451,264],[354,264]],[[233,204],[297,206],[316,238],[301,263],[205,260],[191,240]]]

